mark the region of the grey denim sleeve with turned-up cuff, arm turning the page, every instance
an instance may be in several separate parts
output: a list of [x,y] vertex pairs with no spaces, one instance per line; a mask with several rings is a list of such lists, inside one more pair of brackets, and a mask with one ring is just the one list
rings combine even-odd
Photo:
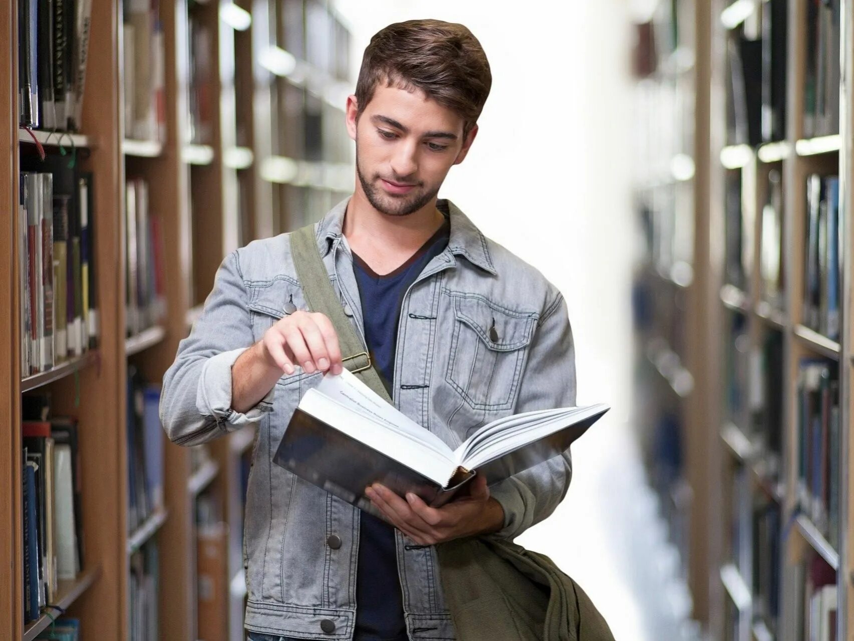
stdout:
[[201,317],[163,377],[160,416],[173,443],[196,445],[258,422],[273,389],[245,414],[231,409],[231,366],[254,343],[237,251],[219,266]]

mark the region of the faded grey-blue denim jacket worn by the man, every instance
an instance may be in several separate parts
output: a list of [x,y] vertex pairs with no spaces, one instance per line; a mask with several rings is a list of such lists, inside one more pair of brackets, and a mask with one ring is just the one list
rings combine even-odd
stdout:
[[[318,249],[345,312],[364,336],[352,255],[342,235],[347,203],[317,224]],[[403,299],[393,397],[401,412],[455,448],[500,416],[574,405],[575,355],[560,292],[485,238],[453,203],[439,205],[450,216],[450,240]],[[288,234],[227,256],[201,318],[163,379],[161,420],[181,445],[252,423],[259,428],[243,538],[246,627],[286,637],[352,639],[360,511],[272,462],[290,416],[319,374],[297,368],[255,408],[245,414],[231,409],[231,366],[294,306],[305,309],[305,300]],[[567,451],[493,485],[505,513],[498,536],[514,538],[552,514],[570,475]],[[331,535],[335,547],[327,543]],[[436,550],[396,535],[410,638],[454,639]]]

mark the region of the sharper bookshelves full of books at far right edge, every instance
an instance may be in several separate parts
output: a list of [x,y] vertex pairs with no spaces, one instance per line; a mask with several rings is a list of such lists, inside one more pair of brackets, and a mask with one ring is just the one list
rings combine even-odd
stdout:
[[711,223],[718,286],[743,304],[722,297],[715,315],[722,492],[711,500],[715,562],[745,594],[714,591],[711,629],[733,641],[850,638],[840,542],[851,156],[840,134],[851,114],[840,117],[840,86],[850,91],[851,78],[840,78],[840,61],[851,60],[851,26],[840,20],[851,21],[851,6],[765,0],[734,13],[734,4],[716,3],[712,29]]

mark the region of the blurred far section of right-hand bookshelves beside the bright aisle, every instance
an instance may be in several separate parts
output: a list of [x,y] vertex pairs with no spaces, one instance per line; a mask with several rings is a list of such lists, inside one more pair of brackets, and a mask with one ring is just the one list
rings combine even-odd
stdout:
[[634,54],[641,239],[633,288],[635,422],[669,543],[681,560],[677,578],[690,589],[693,603],[682,614],[700,621],[709,602],[711,524],[702,500],[710,444],[700,426],[708,412],[702,365],[710,355],[703,332],[687,328],[701,325],[710,291],[703,224],[709,154],[701,132],[709,113],[708,22],[703,3],[658,3],[635,27]]

